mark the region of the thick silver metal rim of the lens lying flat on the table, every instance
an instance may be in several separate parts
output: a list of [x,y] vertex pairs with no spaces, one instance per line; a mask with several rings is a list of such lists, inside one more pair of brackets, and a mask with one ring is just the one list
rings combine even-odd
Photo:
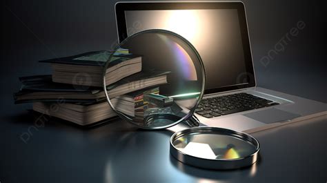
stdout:
[[[207,159],[203,157],[196,157],[193,155],[188,155],[182,151],[179,151],[175,148],[173,142],[184,135],[191,134],[217,134],[217,135],[230,135],[231,137],[237,137],[239,140],[244,140],[253,146],[255,146],[255,152],[246,157],[239,157],[235,159]],[[170,154],[175,157],[180,162],[184,164],[189,164],[191,166],[197,166],[199,168],[208,168],[208,169],[216,169],[216,170],[226,170],[226,169],[235,169],[241,168],[244,166],[250,166],[257,162],[259,155],[259,142],[255,137],[248,135],[247,133],[241,133],[237,131],[232,131],[226,128],[217,128],[217,127],[209,127],[209,126],[201,126],[194,128],[187,128],[183,131],[178,131],[174,133],[170,137]]]

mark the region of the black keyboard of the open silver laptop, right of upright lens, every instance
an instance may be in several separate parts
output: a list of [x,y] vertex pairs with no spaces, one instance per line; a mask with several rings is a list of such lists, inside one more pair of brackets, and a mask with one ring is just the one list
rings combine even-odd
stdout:
[[277,102],[248,93],[235,93],[232,95],[202,99],[199,106],[197,106],[195,109],[195,113],[203,117],[210,118],[239,113],[255,108],[275,106],[278,104],[279,103]]

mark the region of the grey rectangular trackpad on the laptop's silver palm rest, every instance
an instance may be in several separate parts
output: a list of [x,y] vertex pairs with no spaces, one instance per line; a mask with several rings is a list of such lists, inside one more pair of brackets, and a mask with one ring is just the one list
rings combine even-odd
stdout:
[[283,122],[288,119],[294,119],[295,117],[299,117],[301,115],[297,115],[294,113],[288,113],[284,110],[279,110],[277,108],[269,108],[267,110],[259,110],[254,113],[248,113],[244,116],[255,119],[259,122],[263,122],[265,124],[275,123],[275,122]]

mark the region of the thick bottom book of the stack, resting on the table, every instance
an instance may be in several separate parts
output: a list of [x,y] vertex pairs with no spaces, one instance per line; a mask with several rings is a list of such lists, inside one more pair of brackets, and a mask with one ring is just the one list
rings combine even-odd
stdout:
[[[135,117],[136,113],[142,112],[147,108],[148,103],[143,101],[146,93],[159,93],[159,87],[150,90],[140,90],[137,93],[129,93],[123,96],[110,99],[115,110]],[[38,113],[58,117],[81,126],[94,124],[117,114],[112,110],[110,104],[103,100],[101,102],[33,102],[33,110]]]

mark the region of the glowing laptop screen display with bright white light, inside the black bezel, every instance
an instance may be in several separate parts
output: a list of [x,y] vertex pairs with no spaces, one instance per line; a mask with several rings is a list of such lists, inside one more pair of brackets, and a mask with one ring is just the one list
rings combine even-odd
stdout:
[[165,29],[188,39],[204,62],[206,90],[248,84],[248,77],[242,77],[248,72],[237,9],[124,10],[123,13],[127,36],[142,30]]

